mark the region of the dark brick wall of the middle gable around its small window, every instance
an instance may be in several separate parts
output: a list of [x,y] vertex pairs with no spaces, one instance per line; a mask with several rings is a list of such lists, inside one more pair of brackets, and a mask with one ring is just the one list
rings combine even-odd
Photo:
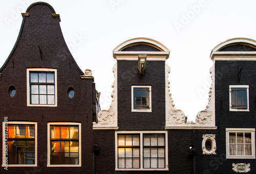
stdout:
[[[164,130],[165,61],[147,61],[144,75],[138,61],[117,60],[119,130]],[[152,86],[152,112],[132,112],[132,85]]]

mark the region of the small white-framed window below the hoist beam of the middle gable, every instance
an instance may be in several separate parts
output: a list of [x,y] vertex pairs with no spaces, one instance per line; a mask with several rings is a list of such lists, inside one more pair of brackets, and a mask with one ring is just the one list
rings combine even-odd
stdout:
[[132,86],[132,112],[151,111],[151,86]]

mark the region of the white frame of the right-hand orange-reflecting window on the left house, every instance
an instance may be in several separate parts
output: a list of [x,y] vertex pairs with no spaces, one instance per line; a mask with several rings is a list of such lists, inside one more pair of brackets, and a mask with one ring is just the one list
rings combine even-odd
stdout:
[[[62,125],[62,126],[65,126],[65,125],[77,125],[78,126],[78,144],[79,144],[79,147],[78,147],[78,154],[79,154],[79,157],[78,157],[78,160],[79,160],[79,164],[51,164],[51,130],[50,130],[50,126],[51,125]],[[81,164],[82,164],[82,139],[81,139],[81,123],[74,123],[74,122],[51,122],[51,123],[47,123],[47,167],[81,167]]]

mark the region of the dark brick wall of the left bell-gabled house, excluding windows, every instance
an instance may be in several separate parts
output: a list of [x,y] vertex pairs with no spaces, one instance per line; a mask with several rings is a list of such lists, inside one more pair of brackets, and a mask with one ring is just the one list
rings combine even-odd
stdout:
[[[51,15],[55,13],[53,9],[39,3],[31,6],[28,12],[14,49],[0,69],[3,75],[0,77],[0,116],[2,121],[8,117],[8,121],[37,122],[38,167],[8,167],[8,171],[1,167],[0,172],[92,173],[92,79],[80,78],[83,73],[63,39],[58,18]],[[57,69],[57,107],[27,106],[27,68]],[[8,92],[11,85],[16,89],[14,97]],[[70,87],[75,91],[72,99],[68,97]],[[58,121],[81,123],[81,167],[46,166],[47,123]],[[0,135],[2,137],[2,126]],[[2,144],[2,138],[0,141]]]

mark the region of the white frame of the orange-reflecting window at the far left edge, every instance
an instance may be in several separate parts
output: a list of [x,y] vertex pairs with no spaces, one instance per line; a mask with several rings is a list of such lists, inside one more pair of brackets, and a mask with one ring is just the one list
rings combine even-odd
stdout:
[[[5,124],[7,123],[7,124]],[[5,165],[5,125],[10,124],[19,124],[19,125],[31,125],[35,126],[35,164],[8,164],[8,167],[37,167],[37,122],[25,122],[25,121],[8,121],[2,122],[3,124],[3,146],[2,146],[2,167],[6,167]],[[8,157],[8,156],[7,156]]]

